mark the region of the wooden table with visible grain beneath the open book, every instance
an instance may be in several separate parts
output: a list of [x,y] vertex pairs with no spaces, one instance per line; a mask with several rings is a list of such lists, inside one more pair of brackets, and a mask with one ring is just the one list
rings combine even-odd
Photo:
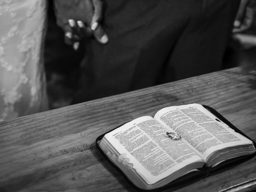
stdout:
[[[256,67],[238,67],[0,122],[0,191],[136,191],[96,149],[104,132],[166,106],[212,106],[256,140]],[[256,157],[176,192],[256,188]]]

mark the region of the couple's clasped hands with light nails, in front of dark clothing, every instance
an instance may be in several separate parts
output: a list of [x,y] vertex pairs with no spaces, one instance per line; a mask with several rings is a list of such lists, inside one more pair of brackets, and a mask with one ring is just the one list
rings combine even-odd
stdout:
[[68,44],[78,42],[84,35],[93,35],[102,44],[108,42],[100,23],[103,15],[101,0],[54,0],[54,10]]

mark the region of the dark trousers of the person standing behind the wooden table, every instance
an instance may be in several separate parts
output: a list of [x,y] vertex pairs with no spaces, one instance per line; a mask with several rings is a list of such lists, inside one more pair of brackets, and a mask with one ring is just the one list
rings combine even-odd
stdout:
[[75,103],[222,69],[240,0],[105,0],[109,43],[85,42]]

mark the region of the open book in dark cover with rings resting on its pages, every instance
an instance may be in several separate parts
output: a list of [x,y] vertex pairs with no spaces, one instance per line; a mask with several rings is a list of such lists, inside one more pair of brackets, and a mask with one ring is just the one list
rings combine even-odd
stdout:
[[252,140],[200,104],[171,106],[104,134],[97,145],[138,188],[162,187],[190,172],[254,154]]

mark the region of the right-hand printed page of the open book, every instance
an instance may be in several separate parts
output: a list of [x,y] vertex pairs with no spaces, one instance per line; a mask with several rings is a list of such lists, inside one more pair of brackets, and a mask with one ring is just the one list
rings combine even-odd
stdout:
[[251,142],[200,104],[167,107],[158,111],[154,118],[178,133],[205,161],[216,150]]

